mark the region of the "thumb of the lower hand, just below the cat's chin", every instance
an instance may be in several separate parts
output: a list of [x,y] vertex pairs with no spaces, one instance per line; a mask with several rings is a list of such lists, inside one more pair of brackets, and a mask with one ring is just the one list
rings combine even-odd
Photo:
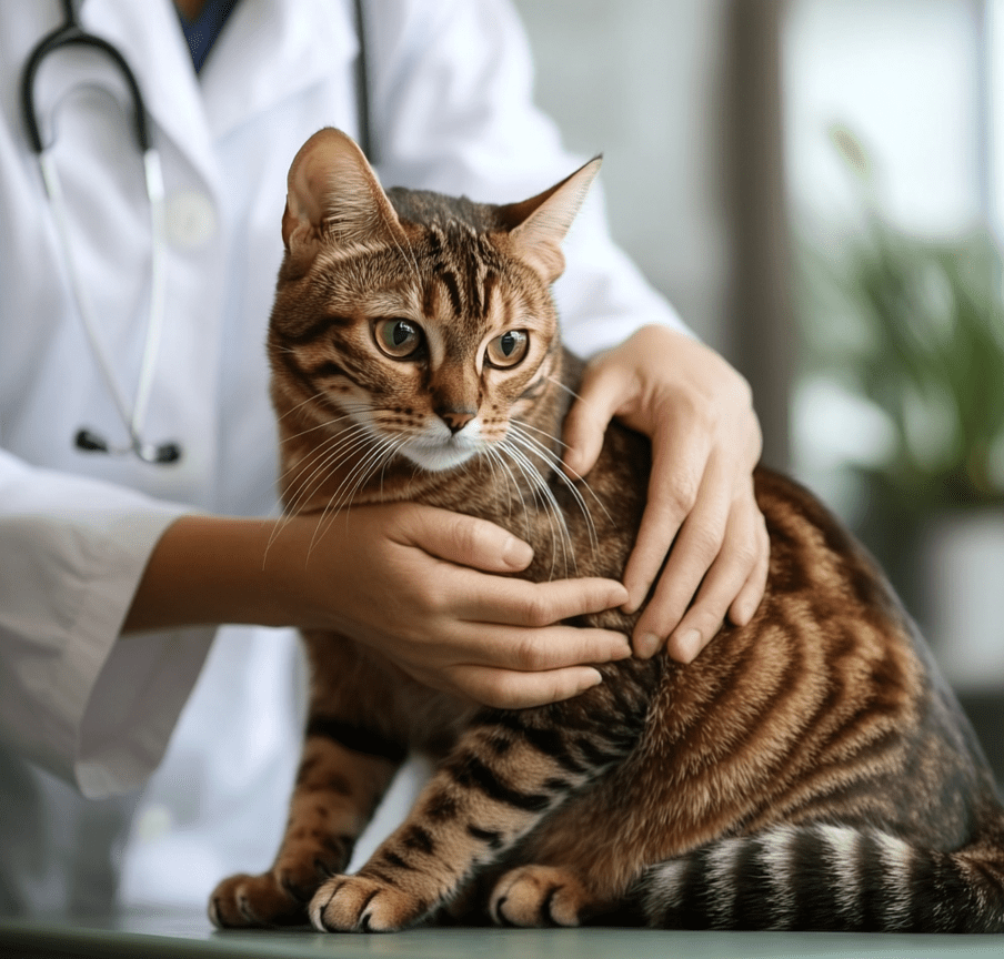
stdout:
[[402,517],[401,542],[448,563],[486,573],[524,569],[533,549],[486,519],[435,506],[415,506]]

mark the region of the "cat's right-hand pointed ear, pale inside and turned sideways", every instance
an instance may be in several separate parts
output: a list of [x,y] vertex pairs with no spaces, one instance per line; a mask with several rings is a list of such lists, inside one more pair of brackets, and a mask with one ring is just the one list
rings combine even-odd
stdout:
[[582,209],[602,162],[602,157],[594,157],[550,190],[499,211],[509,225],[513,252],[546,283],[553,283],[564,271],[562,241]]

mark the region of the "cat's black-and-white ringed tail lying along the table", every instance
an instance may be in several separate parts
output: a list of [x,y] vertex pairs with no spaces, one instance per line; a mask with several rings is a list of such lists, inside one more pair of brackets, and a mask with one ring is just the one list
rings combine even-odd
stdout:
[[664,929],[1004,931],[1004,848],[917,849],[814,825],[725,839],[652,866],[635,889]]

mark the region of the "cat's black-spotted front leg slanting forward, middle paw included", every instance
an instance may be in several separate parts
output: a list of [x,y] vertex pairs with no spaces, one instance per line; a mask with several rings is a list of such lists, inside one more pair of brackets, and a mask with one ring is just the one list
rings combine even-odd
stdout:
[[621,688],[596,687],[572,705],[482,714],[370,861],[318,890],[313,925],[390,931],[448,904],[475,870],[631,751],[647,697],[611,686]]

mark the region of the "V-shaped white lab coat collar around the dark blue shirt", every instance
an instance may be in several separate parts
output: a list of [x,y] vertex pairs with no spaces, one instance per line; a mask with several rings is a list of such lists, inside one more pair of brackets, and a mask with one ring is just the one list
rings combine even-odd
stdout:
[[217,140],[340,62],[348,78],[358,51],[345,0],[241,0],[201,80],[172,0],[87,0],[81,21],[122,52],[157,125],[213,192],[221,175]]

